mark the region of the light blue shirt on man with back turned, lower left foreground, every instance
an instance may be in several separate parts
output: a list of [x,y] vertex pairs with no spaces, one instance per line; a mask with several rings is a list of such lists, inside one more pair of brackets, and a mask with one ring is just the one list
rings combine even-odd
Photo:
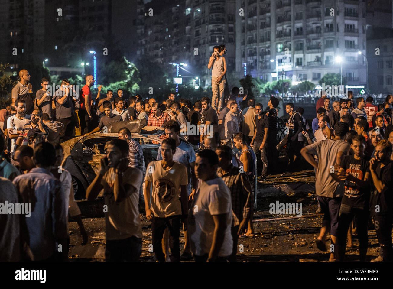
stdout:
[[46,169],[33,168],[16,177],[13,184],[20,202],[31,203],[31,216],[26,217],[26,226],[34,258],[36,261],[47,259],[57,250],[57,241],[68,237],[61,181]]

